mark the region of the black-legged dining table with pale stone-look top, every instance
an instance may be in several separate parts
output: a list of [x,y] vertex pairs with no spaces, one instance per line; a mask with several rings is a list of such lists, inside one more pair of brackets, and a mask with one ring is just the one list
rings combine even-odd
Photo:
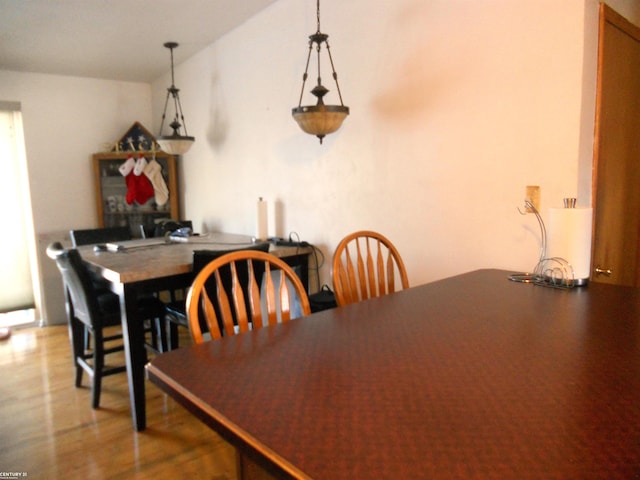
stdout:
[[[188,287],[193,281],[195,250],[231,250],[254,245],[248,235],[208,233],[176,239],[137,239],[107,244],[118,250],[95,250],[94,245],[78,247],[87,267],[104,278],[120,297],[125,358],[129,384],[131,415],[135,430],[146,428],[145,377],[147,351],[144,347],[142,318],[137,317],[140,295]],[[305,246],[269,247],[269,252],[292,264],[300,265],[307,285],[308,257],[313,248]]]

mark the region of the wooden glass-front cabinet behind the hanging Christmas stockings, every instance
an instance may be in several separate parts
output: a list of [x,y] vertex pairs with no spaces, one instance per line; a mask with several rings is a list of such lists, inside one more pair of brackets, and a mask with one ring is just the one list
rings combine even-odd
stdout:
[[150,232],[153,231],[157,220],[180,218],[176,160],[173,155],[164,152],[155,152],[155,160],[161,167],[162,179],[169,192],[166,203],[159,205],[155,194],[144,203],[138,203],[136,200],[129,203],[131,190],[135,186],[128,185],[127,178],[119,168],[129,157],[138,159],[140,155],[147,161],[154,158],[153,152],[105,152],[93,155],[99,225],[128,226],[134,238],[142,236],[140,225],[144,225],[145,230]]

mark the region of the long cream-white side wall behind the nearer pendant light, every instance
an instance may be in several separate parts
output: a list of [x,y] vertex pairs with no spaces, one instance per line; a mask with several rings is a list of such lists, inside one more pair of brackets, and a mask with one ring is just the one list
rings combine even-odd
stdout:
[[[333,248],[357,229],[389,236],[412,284],[531,269],[539,234],[517,210],[525,186],[541,186],[543,213],[579,190],[579,204],[591,201],[597,3],[343,0],[321,13],[351,108],[324,145],[290,115],[315,2],[281,0],[177,65],[196,137],[181,165],[186,217],[254,233],[257,197],[282,202],[277,233],[322,248],[324,282]],[[154,119],[167,85],[153,84]]]

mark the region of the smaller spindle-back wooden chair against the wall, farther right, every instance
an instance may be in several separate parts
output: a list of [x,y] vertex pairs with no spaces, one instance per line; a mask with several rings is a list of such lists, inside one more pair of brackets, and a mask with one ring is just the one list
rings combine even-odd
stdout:
[[344,237],[333,254],[332,280],[338,306],[409,288],[400,253],[384,235],[361,230]]

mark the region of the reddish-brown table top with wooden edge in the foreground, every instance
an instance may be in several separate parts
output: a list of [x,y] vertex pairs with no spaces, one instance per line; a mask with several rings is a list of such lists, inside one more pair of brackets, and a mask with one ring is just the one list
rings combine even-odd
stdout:
[[479,270],[156,357],[149,378],[296,476],[635,478],[640,290]]

